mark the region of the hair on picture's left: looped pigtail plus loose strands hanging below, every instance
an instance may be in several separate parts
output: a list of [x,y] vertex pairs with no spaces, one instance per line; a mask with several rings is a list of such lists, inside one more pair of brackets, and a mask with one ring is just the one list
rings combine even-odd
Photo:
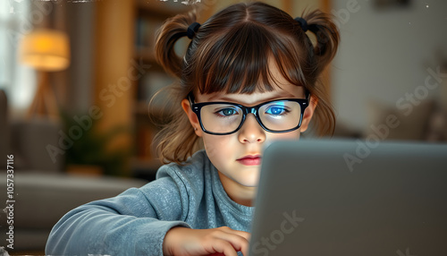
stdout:
[[[174,51],[174,45],[178,39],[192,38],[188,30],[191,24],[194,26],[194,32],[198,30],[199,25],[195,22],[196,17],[194,10],[190,13],[178,14],[165,21],[156,32],[157,62],[163,66],[167,73],[172,73],[181,79],[180,82],[175,82],[170,87],[158,91],[149,102],[149,118],[161,128],[153,140],[153,146],[156,147],[157,155],[163,164],[170,162],[183,164],[199,149],[198,137],[190,125],[188,116],[184,114],[180,106],[181,100],[186,97],[189,90],[184,86],[185,81],[182,78],[183,56],[177,55]],[[157,120],[150,113],[159,112],[155,102],[157,98],[162,98],[161,95],[169,95],[170,104],[165,102],[162,107],[164,120]]]

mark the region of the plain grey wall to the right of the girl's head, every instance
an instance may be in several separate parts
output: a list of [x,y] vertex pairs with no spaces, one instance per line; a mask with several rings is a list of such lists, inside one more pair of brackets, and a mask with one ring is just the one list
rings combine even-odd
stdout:
[[[440,87],[422,87],[447,48],[447,2],[409,1],[407,8],[378,11],[373,0],[333,0],[342,44],[333,61],[333,102],[339,121],[357,130],[368,124],[368,104],[378,101],[401,111],[409,94],[437,98]],[[390,2],[390,1],[389,1]],[[430,81],[434,83],[434,81]],[[402,99],[403,98],[403,99]],[[411,103],[413,104],[413,103]]]

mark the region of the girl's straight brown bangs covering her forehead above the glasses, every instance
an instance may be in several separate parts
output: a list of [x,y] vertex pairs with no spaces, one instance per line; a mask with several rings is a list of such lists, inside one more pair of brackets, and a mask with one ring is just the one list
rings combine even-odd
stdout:
[[[204,49],[198,49],[195,81],[202,94],[214,92],[251,94],[272,91],[278,74],[271,72],[272,62],[286,81],[306,86],[296,41],[279,30],[269,30],[256,22],[241,22],[219,31]],[[201,61],[199,61],[201,60]]]

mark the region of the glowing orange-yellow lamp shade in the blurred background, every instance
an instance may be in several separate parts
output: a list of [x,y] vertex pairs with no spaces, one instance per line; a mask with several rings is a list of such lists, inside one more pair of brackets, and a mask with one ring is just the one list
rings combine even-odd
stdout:
[[41,71],[61,71],[70,64],[67,35],[58,30],[34,30],[20,46],[20,60]]

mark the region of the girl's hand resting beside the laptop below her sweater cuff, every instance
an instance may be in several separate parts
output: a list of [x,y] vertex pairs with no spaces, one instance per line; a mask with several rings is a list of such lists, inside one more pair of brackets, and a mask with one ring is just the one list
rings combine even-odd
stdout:
[[212,229],[173,227],[164,236],[163,254],[198,256],[237,256],[237,252],[249,255],[249,233],[233,230],[228,226]]

